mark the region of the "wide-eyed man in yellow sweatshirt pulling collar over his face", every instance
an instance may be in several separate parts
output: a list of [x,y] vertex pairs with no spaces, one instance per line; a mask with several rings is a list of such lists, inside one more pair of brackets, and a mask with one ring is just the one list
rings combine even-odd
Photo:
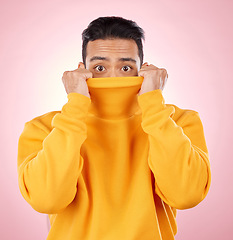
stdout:
[[174,239],[176,209],[210,187],[199,114],[164,103],[167,72],[143,63],[135,22],[100,17],[82,36],[68,102],[20,136],[20,191],[49,215],[48,240]]

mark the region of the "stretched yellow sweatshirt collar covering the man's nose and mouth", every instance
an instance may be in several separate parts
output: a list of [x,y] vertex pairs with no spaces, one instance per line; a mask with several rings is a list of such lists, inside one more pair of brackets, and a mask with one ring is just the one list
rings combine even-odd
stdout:
[[89,112],[105,119],[129,118],[137,111],[143,77],[88,78],[91,97]]

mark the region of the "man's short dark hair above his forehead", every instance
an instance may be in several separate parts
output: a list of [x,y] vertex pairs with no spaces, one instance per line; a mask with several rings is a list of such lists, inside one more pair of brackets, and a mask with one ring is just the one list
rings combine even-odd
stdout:
[[143,63],[142,40],[145,41],[144,30],[134,21],[122,17],[99,17],[93,20],[82,32],[82,58],[86,67],[86,49],[89,41],[97,39],[133,39],[138,46],[140,62]]

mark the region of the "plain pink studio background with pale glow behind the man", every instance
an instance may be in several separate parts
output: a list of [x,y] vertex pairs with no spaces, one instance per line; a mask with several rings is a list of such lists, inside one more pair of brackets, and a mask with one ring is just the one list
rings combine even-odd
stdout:
[[232,239],[232,12],[230,0],[2,1],[0,239],[46,239],[46,215],[18,188],[18,138],[26,121],[66,103],[61,77],[82,61],[82,30],[112,15],[145,30],[145,61],[169,74],[166,103],[198,111],[204,125],[212,185],[198,206],[178,211],[176,239]]

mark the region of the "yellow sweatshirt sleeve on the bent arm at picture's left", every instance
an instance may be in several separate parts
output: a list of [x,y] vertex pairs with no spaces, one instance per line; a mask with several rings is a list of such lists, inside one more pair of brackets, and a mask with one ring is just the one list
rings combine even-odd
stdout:
[[76,195],[90,102],[82,94],[70,93],[62,111],[46,123],[50,129],[45,117],[25,124],[18,142],[18,182],[23,197],[38,212],[58,213]]

